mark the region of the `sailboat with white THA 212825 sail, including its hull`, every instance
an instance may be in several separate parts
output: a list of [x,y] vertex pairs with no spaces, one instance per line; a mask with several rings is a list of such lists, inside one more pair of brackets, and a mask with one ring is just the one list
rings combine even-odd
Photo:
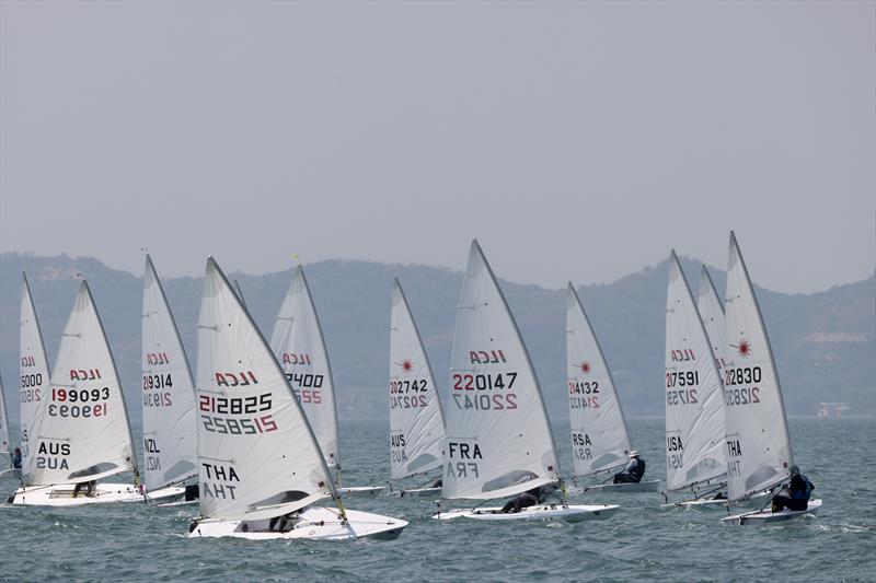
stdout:
[[[201,517],[191,537],[395,538],[407,525],[344,509],[289,381],[212,258],[196,378]],[[328,498],[336,509],[313,505]]]

